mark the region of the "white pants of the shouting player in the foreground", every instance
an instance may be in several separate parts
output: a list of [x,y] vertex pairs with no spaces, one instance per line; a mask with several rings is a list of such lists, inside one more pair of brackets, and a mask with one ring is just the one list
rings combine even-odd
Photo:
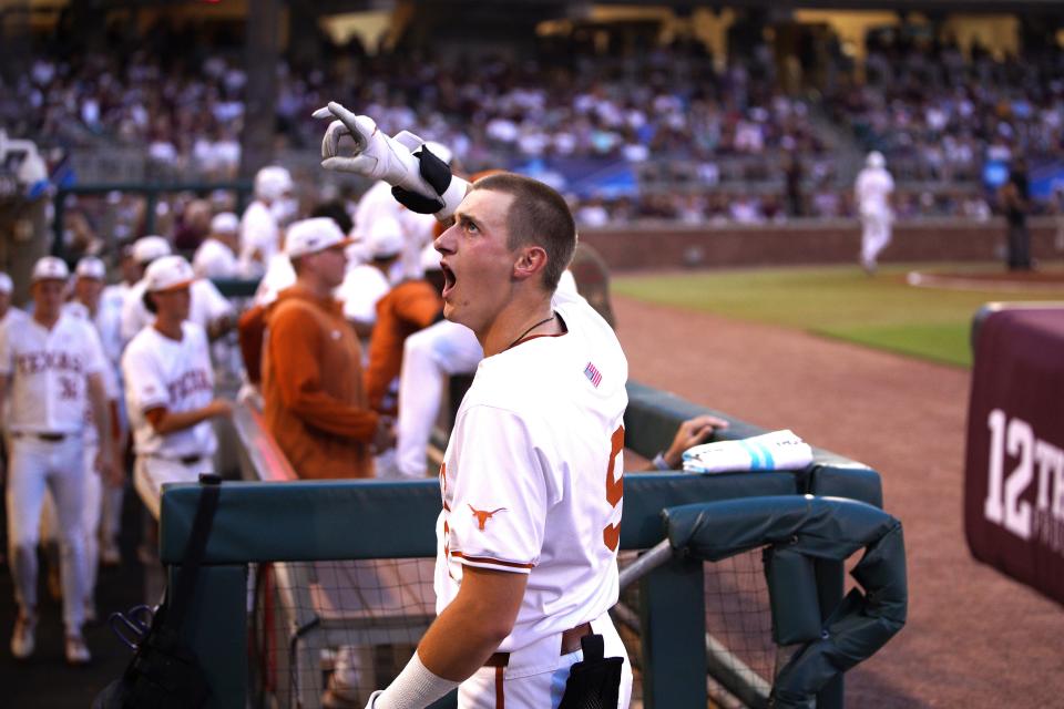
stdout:
[[[632,699],[632,664],[624,649],[624,643],[608,614],[591,621],[594,633],[603,636],[605,657],[623,657],[621,670],[621,691],[617,709],[627,709]],[[482,667],[458,688],[459,709],[557,709],[565,693],[569,668],[583,659],[583,650],[559,656],[561,638],[557,635],[546,638],[530,648],[510,654],[507,667]],[[544,656],[553,655],[548,659]],[[554,667],[542,671],[543,665]]]

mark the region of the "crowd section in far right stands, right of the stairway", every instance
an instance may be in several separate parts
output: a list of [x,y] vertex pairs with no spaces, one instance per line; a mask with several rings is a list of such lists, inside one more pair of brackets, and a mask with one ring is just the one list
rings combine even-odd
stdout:
[[903,179],[978,182],[984,162],[1064,156],[1064,51],[995,59],[978,41],[872,41],[864,82],[826,96]]

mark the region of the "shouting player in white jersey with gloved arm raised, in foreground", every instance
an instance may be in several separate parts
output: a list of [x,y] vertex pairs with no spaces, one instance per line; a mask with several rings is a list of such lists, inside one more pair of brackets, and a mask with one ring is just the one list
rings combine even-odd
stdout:
[[[370,119],[336,103],[315,115],[326,114],[338,119],[323,142],[327,168],[382,177],[407,206],[448,216],[463,183],[416,136],[403,136],[420,158],[411,168],[407,145]],[[354,158],[336,155],[344,134]],[[369,707],[424,707],[456,686],[463,708],[557,707],[575,689],[582,638],[601,636],[623,664],[592,700],[625,708],[632,674],[606,612],[617,600],[627,362],[583,298],[555,294],[576,244],[561,195],[491,175],[454,217],[436,240],[443,314],[477,335],[484,359],[440,469],[439,616]]]

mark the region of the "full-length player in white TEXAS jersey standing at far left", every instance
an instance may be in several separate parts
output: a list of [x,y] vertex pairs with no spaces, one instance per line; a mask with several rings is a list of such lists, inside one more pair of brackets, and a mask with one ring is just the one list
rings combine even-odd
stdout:
[[63,587],[66,661],[90,660],[81,635],[85,610],[85,541],[82,527],[85,467],[82,448],[86,399],[92,404],[100,455],[96,466],[119,475],[111,442],[103,369],[106,362],[92,325],[63,314],[70,273],[52,256],[32,271],[33,317],[0,331],[0,410],[11,395],[8,528],[11,575],[19,616],[11,654],[33,654],[37,627],[37,543],[45,491],[55,501]]

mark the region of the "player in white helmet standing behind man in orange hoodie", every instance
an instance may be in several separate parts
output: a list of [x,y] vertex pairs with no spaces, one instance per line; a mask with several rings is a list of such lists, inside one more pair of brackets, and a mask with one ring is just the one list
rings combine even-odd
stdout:
[[241,218],[239,271],[258,278],[280,251],[282,229],[296,217],[295,185],[284,167],[269,165],[255,174],[255,201]]

